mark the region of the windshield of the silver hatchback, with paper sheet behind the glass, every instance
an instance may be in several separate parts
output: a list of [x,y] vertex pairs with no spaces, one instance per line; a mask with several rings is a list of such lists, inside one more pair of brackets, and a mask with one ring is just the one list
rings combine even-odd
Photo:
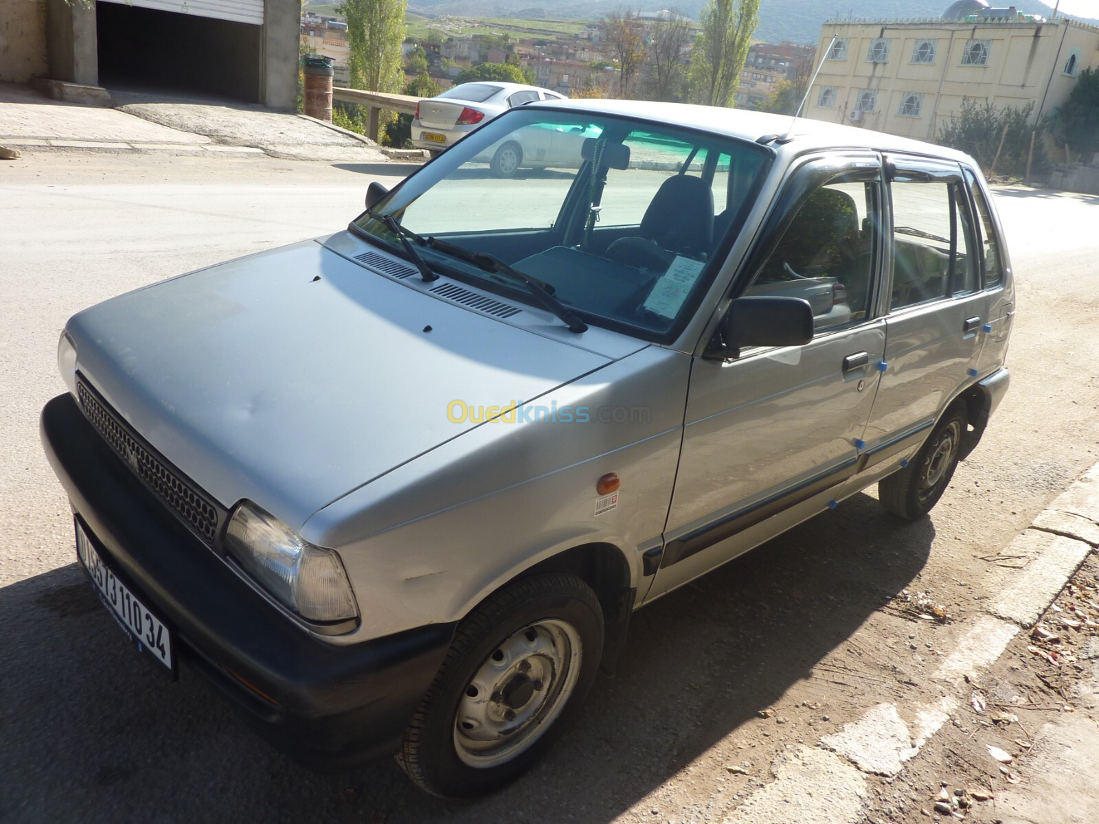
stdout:
[[524,107],[455,144],[354,226],[407,256],[389,215],[444,275],[537,303],[518,278],[453,247],[491,255],[587,323],[666,341],[701,300],[770,157],[723,135]]

